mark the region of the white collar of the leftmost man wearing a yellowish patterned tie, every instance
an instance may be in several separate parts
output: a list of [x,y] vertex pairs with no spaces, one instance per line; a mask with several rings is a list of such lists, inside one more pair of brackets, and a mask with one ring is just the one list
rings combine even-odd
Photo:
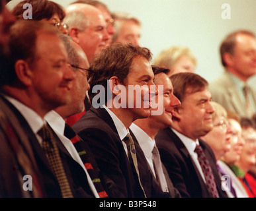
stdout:
[[42,128],[42,126],[44,125],[44,119],[42,119],[40,115],[36,113],[36,111],[22,104],[22,102],[16,100],[15,98],[12,98],[11,96],[5,95],[5,98],[7,98],[7,100],[9,100],[9,102],[11,102],[11,104],[13,104],[13,106],[15,106],[21,112],[22,116],[26,119],[28,125],[32,129],[33,133],[36,134]]

